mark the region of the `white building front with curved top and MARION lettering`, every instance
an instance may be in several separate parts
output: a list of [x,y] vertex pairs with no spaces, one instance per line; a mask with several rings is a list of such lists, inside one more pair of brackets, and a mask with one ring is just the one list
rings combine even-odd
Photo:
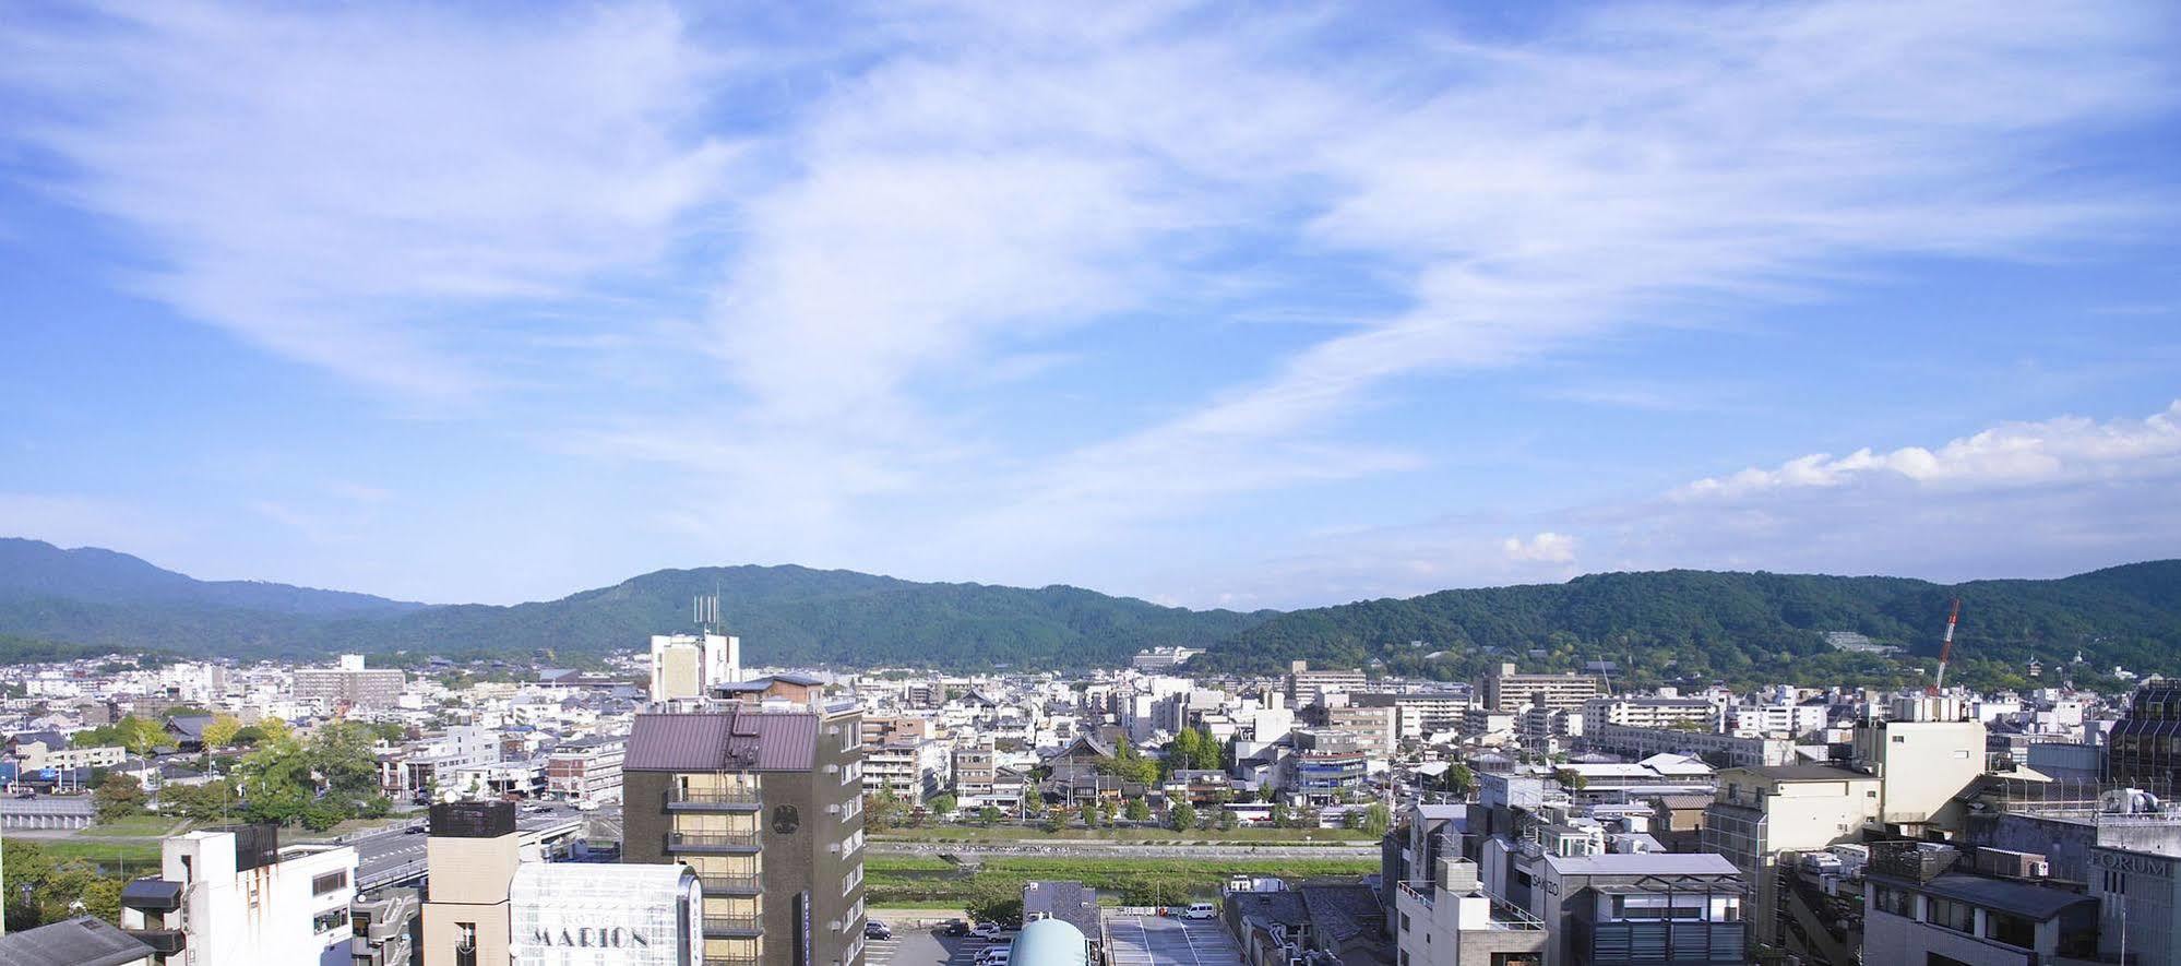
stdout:
[[526,861],[508,890],[515,966],[689,966],[704,887],[687,866]]

